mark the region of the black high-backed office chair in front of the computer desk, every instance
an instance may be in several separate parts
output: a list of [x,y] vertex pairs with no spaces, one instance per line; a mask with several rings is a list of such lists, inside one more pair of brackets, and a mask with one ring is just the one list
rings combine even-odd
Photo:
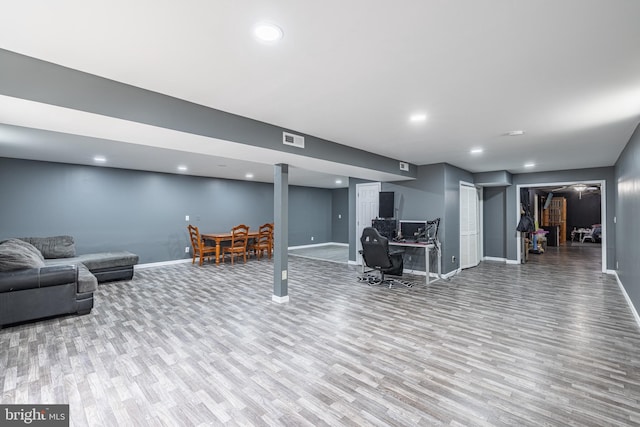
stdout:
[[412,283],[396,279],[386,279],[385,274],[390,276],[402,276],[403,261],[402,252],[389,252],[389,239],[383,237],[373,227],[366,227],[362,230],[360,237],[362,243],[362,260],[364,264],[371,268],[368,272],[377,271],[380,277],[364,275],[368,273],[363,271],[363,276],[359,277],[361,281],[368,284],[389,284],[389,288],[394,283],[400,283],[407,287],[411,287]]

